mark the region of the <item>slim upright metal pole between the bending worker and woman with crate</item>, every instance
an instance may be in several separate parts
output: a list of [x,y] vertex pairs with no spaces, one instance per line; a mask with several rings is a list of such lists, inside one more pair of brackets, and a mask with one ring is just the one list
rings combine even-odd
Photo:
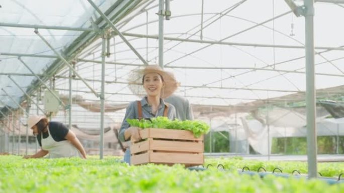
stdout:
[[105,56],[106,56],[106,40],[102,38],[102,90],[101,90],[101,132],[99,142],[99,156],[103,159],[104,148],[104,98],[105,98]]

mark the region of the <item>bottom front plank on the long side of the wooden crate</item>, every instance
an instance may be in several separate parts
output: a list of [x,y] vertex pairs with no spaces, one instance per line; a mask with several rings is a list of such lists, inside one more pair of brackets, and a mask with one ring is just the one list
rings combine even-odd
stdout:
[[152,163],[189,163],[203,164],[203,154],[185,154],[185,153],[150,153],[150,162]]

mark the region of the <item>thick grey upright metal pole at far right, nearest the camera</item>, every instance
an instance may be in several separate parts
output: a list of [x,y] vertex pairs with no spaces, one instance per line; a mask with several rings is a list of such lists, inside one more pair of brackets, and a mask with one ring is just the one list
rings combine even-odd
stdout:
[[306,107],[307,107],[307,159],[308,177],[317,176],[317,142],[315,111],[315,76],[314,76],[314,1],[304,0],[305,37],[306,37]]

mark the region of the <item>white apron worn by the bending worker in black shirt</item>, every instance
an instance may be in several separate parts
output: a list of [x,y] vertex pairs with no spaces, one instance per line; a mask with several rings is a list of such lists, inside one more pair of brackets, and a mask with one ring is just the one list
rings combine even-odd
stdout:
[[43,139],[43,133],[41,134],[42,149],[49,151],[50,158],[58,157],[81,157],[81,154],[68,140],[55,141],[47,128],[49,136]]

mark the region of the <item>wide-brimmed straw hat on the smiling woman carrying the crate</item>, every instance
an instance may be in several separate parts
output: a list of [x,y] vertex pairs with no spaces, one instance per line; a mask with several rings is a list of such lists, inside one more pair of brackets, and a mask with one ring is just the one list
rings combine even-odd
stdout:
[[173,73],[164,71],[157,65],[148,65],[145,66],[144,69],[132,71],[129,75],[129,89],[135,95],[139,97],[146,96],[146,91],[142,86],[142,77],[148,73],[158,73],[162,76],[165,86],[161,89],[160,98],[167,98],[177,90],[179,82],[177,82]]

